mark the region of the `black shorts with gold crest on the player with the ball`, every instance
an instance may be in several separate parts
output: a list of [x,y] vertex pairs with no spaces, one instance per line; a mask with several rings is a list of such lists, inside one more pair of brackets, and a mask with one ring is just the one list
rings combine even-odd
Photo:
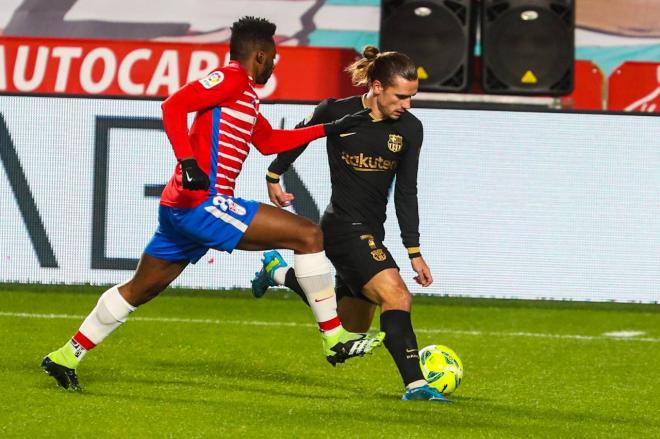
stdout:
[[321,222],[325,254],[337,271],[337,300],[344,296],[368,302],[362,287],[376,274],[388,268],[399,269],[387,247],[384,233],[363,223]]

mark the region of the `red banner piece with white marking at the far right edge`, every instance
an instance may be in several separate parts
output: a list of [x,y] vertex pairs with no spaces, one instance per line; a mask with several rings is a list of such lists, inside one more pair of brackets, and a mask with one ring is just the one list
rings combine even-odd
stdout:
[[607,109],[660,113],[660,63],[628,61],[614,70]]

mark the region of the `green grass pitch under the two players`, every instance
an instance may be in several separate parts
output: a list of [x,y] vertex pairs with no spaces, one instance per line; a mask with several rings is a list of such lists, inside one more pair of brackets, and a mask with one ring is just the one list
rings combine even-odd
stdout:
[[440,404],[400,401],[385,348],[332,368],[291,293],[168,290],[59,389],[41,358],[102,290],[0,285],[0,437],[660,437],[658,305],[416,297],[420,347],[465,365]]

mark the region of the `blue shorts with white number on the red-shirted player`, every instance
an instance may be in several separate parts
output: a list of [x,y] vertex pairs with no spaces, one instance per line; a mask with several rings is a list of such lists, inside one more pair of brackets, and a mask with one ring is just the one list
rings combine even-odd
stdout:
[[231,253],[259,209],[257,201],[209,197],[192,209],[160,206],[158,229],[144,252],[166,261],[200,260],[210,249]]

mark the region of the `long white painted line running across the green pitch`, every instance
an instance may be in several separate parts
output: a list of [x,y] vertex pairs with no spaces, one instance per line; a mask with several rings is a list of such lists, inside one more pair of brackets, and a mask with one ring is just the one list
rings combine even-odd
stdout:
[[[35,314],[26,312],[3,312],[0,311],[0,317],[22,317],[28,319],[68,319],[82,321],[86,316],[73,314]],[[267,322],[262,320],[218,320],[218,319],[186,319],[181,317],[130,317],[130,321],[136,322],[158,322],[158,323],[201,323],[207,325],[241,325],[241,326],[279,326],[296,328],[316,328],[313,323],[296,322]],[[466,331],[460,329],[434,329],[417,328],[418,334],[452,334],[452,335],[476,335],[488,337],[537,337],[554,338],[562,340],[621,340],[621,341],[641,341],[647,343],[660,343],[660,338],[653,337],[613,337],[606,335],[571,335],[571,334],[546,334],[541,332],[495,332],[495,331]],[[639,331],[641,332],[641,331]],[[641,334],[644,334],[641,332]]]

